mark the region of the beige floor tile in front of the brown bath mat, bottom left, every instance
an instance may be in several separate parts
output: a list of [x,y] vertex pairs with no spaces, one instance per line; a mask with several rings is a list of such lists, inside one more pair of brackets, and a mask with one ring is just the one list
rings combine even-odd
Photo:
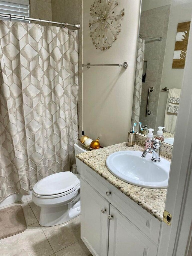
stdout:
[[40,225],[32,224],[14,236],[0,240],[1,256],[49,256],[53,250]]

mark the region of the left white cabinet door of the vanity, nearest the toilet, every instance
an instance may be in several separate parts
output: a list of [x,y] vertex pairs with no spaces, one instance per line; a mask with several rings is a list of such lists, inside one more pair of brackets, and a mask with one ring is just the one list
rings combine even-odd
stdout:
[[94,256],[108,255],[108,215],[107,200],[81,178],[81,239]]

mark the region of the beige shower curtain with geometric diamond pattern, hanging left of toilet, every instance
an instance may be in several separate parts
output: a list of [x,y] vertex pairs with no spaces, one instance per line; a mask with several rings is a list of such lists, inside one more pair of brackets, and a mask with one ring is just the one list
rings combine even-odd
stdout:
[[0,201],[75,160],[77,43],[77,31],[0,21]]

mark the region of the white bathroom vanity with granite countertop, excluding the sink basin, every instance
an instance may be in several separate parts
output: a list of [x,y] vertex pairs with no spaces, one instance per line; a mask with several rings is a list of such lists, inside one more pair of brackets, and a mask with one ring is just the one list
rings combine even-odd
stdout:
[[167,189],[141,188],[113,176],[108,155],[125,143],[77,155],[81,160],[81,239],[94,256],[155,256]]

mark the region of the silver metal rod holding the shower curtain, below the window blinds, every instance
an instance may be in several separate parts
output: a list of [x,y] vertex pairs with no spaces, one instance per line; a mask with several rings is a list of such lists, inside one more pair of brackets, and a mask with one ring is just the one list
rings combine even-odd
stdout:
[[49,23],[49,24],[58,24],[61,26],[70,26],[70,27],[74,27],[74,29],[80,29],[80,23],[78,24],[68,24],[68,23],[62,23],[62,22],[56,22],[56,21],[49,21],[49,20],[41,20],[41,19],[34,19],[34,18],[29,18],[29,17],[25,17],[25,16],[20,16],[20,15],[12,15],[12,14],[3,14],[0,13],[0,17],[4,17],[4,18],[9,18],[11,19],[18,19],[18,20],[32,20],[32,21],[37,21],[41,24],[41,22],[45,22],[45,23]]

